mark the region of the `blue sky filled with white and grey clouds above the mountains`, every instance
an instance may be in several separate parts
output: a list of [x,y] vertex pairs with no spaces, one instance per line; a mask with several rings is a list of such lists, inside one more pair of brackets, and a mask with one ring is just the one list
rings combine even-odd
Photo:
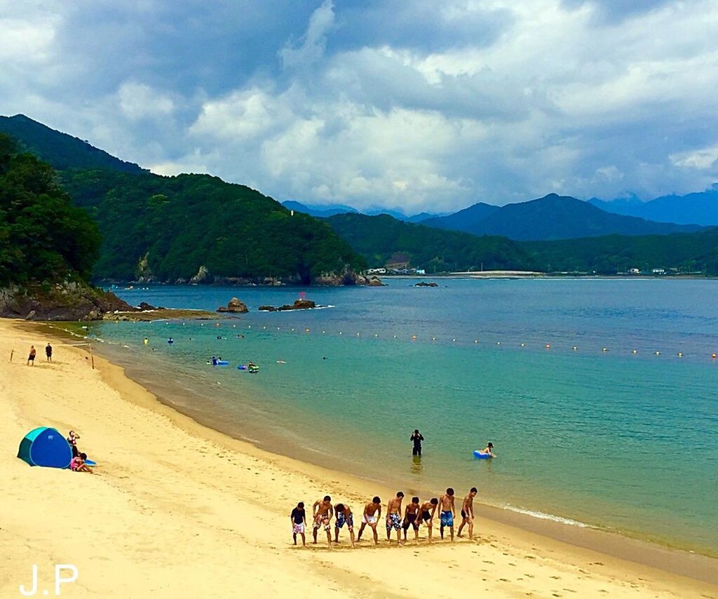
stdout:
[[407,213],[718,181],[717,0],[0,0],[0,113]]

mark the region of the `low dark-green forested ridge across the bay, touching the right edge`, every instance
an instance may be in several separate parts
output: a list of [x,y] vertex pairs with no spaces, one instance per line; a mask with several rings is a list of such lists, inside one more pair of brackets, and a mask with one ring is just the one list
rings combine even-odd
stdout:
[[673,235],[591,237],[522,244],[542,271],[616,274],[679,269],[718,275],[718,228]]

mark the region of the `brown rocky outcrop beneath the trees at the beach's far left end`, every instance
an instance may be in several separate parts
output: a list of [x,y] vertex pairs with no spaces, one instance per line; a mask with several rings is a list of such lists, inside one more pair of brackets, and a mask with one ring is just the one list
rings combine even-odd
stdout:
[[136,308],[84,282],[13,285],[0,289],[0,317],[27,320],[101,320],[106,312]]

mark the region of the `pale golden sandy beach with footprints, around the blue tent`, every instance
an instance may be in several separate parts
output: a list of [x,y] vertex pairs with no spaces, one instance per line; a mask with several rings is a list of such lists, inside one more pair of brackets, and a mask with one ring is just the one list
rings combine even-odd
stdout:
[[[45,361],[45,343],[55,345]],[[26,366],[27,350],[38,350]],[[11,351],[14,358],[9,361]],[[31,587],[55,593],[54,568],[74,565],[65,597],[205,597],[264,593],[303,597],[704,597],[718,598],[716,560],[696,556],[687,577],[488,518],[477,507],[476,538],[454,544],[388,546],[366,535],[357,549],[292,545],[289,512],[308,514],[329,494],[358,514],[396,489],[273,455],[197,424],[83,348],[24,322],[0,321],[0,596]],[[74,429],[99,475],[30,468],[20,440],[39,426]],[[450,480],[447,484],[450,484]],[[467,490],[457,489],[457,496]],[[423,499],[423,498],[422,498]],[[458,500],[457,500],[458,501]],[[457,504],[457,509],[459,508]],[[308,517],[309,519],[309,517]],[[434,534],[438,537],[438,531]],[[661,550],[665,562],[676,554]],[[682,559],[682,558],[681,558]],[[701,559],[703,561],[701,561]],[[645,562],[645,560],[643,560]],[[67,575],[67,572],[65,572]]]

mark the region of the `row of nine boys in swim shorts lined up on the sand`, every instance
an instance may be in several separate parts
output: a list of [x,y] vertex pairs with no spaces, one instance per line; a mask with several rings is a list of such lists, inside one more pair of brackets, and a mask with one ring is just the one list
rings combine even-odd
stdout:
[[[461,507],[462,522],[457,533],[461,537],[464,526],[469,528],[469,538],[474,537],[474,498],[476,496],[476,487],[472,487],[471,491],[465,496]],[[404,493],[399,491],[396,497],[391,499],[386,506],[386,540],[391,542],[392,531],[396,531],[396,544],[401,544],[401,531],[404,530],[404,542],[406,542],[406,533],[409,527],[414,529],[414,538],[419,542],[419,526],[424,523],[429,533],[429,543],[432,542],[432,527],[434,524],[434,516],[439,509],[439,534],[444,538],[444,529],[447,528],[451,534],[451,540],[454,540],[454,519],[456,518],[456,507],[454,506],[454,489],[447,488],[439,498],[432,498],[423,503],[418,497],[412,497],[411,503],[404,507],[404,516],[401,514],[401,503],[404,501]],[[374,536],[374,544],[379,544],[379,535],[376,531],[379,519],[381,518],[381,499],[374,497],[364,506],[361,517],[361,526],[359,532],[354,537],[354,512],[346,503],[337,503],[332,506],[332,498],[325,496],[324,499],[317,499],[312,506],[312,536],[314,543],[317,542],[317,533],[320,529],[324,529],[327,533],[327,545],[332,549],[332,519],[334,524],[334,542],[339,542],[340,530],[347,525],[349,537],[352,547],[355,542],[361,540],[364,529],[369,526]],[[292,537],[294,544],[297,544],[297,535],[302,537],[302,546],[307,547],[307,538],[305,530],[307,529],[307,515],[304,511],[304,503],[297,503],[297,507],[292,510],[289,516],[292,519]]]

